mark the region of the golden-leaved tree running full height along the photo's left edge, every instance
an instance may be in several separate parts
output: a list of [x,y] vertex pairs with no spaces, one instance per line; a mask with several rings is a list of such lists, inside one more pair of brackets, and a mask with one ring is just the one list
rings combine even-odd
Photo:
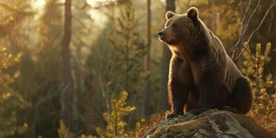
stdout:
[[31,105],[18,90],[12,88],[21,75],[17,63],[21,61],[26,46],[22,22],[32,17],[28,1],[1,1],[0,3],[0,137],[26,132],[28,124],[21,112]]

